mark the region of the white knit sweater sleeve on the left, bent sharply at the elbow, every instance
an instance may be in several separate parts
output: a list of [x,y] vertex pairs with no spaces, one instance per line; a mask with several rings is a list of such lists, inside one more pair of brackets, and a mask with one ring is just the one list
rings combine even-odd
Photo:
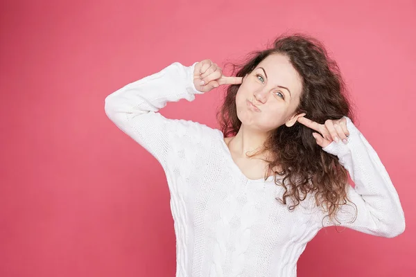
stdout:
[[[105,114],[125,134],[142,145],[164,168],[175,133],[191,132],[198,123],[170,119],[159,114],[167,102],[192,101],[202,94],[193,84],[193,70],[198,62],[184,66],[174,62],[157,73],[126,84],[105,98]],[[180,141],[175,138],[175,141]]]

